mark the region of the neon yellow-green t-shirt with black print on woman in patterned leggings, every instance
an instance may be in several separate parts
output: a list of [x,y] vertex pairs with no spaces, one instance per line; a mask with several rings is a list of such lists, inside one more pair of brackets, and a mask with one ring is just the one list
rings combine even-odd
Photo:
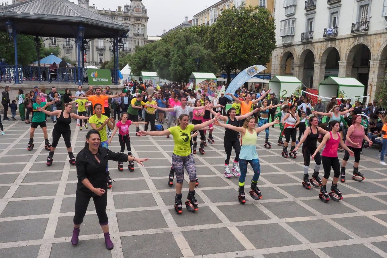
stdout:
[[194,125],[188,124],[185,130],[182,130],[180,126],[173,126],[168,128],[168,130],[173,136],[173,142],[175,142],[175,147],[173,147],[173,154],[182,157],[189,156],[191,154],[191,132],[194,130]]

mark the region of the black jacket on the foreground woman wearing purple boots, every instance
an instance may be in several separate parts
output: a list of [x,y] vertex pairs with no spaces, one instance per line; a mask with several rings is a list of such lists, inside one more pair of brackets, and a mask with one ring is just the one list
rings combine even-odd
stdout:
[[128,155],[120,152],[112,152],[104,147],[99,147],[97,152],[99,163],[90,152],[89,149],[82,149],[75,160],[75,167],[77,167],[77,192],[76,194],[84,196],[97,196],[89,190],[82,180],[89,179],[94,188],[101,188],[107,190],[108,173],[106,173],[106,166],[108,160],[113,161],[128,161]]

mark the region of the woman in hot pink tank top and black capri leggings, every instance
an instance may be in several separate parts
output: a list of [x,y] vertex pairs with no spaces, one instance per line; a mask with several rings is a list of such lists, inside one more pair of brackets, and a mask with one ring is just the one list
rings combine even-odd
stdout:
[[344,150],[348,151],[349,155],[352,157],[354,156],[354,153],[352,150],[348,149],[348,147],[344,144],[344,142],[341,139],[341,135],[339,134],[340,130],[340,123],[339,121],[331,121],[330,128],[332,128],[332,131],[325,134],[324,138],[322,139],[321,144],[317,149],[315,150],[315,153],[312,155],[312,159],[314,159],[317,152],[319,152],[322,147],[325,145],[325,149],[322,151],[321,154],[321,162],[322,166],[324,167],[324,177],[322,178],[322,186],[320,188],[320,199],[323,202],[329,201],[328,192],[327,192],[327,181],[329,179],[330,175],[330,167],[333,169],[334,177],[332,181],[332,186],[330,187],[330,190],[333,193],[336,193],[339,196],[339,199],[341,200],[341,191],[337,189],[337,181],[339,181],[340,176],[340,162],[339,158],[337,157],[337,148],[339,147],[339,144],[341,147],[344,148]]

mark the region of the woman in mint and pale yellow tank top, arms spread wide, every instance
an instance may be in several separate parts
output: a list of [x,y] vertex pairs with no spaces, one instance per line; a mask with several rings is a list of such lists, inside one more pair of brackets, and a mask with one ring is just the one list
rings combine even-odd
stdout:
[[250,165],[253,168],[254,175],[253,179],[251,180],[251,191],[250,195],[254,198],[254,200],[259,200],[262,198],[261,191],[257,187],[259,174],[261,172],[261,168],[259,165],[259,159],[257,154],[257,134],[265,130],[266,128],[269,128],[272,125],[278,124],[279,120],[278,118],[271,123],[267,123],[261,127],[255,128],[255,118],[253,116],[249,116],[246,118],[245,123],[243,123],[243,127],[237,127],[229,124],[219,123],[217,120],[214,122],[215,125],[228,128],[231,130],[234,130],[236,132],[239,132],[241,134],[241,150],[239,153],[239,167],[240,167],[240,177],[239,177],[239,195],[238,200],[241,204],[244,204],[246,202],[245,199],[245,179],[247,174],[247,164],[250,163]]

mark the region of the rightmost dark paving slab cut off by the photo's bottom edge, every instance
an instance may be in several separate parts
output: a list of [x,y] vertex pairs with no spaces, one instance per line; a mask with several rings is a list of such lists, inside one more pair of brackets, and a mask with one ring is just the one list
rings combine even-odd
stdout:
[[335,247],[326,247],[321,248],[321,251],[326,253],[329,257],[332,258],[342,258],[342,257],[359,257],[361,254],[362,257],[369,258],[379,258],[382,257],[372,251],[369,248],[366,248],[362,244],[352,244],[349,246],[335,246]]

